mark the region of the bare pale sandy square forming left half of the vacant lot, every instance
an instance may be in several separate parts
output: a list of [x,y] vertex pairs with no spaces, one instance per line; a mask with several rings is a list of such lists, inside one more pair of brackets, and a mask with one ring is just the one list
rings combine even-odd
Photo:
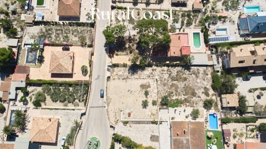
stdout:
[[[112,124],[121,120],[121,111],[123,120],[157,119],[157,106],[152,106],[152,100],[157,100],[156,79],[116,79],[108,82],[107,87],[107,104]],[[144,95],[146,89],[149,90],[147,98]],[[147,108],[142,107],[142,100],[145,99],[149,101]],[[130,117],[128,112],[131,112]]]

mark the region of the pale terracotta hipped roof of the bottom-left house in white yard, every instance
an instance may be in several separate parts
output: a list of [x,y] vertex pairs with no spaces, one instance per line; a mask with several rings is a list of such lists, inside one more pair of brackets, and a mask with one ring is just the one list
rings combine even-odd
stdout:
[[58,118],[33,117],[30,142],[55,143]]

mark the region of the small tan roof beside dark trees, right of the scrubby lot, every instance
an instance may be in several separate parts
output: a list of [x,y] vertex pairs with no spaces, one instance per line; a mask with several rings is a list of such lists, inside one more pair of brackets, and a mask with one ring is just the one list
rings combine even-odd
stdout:
[[239,101],[238,93],[222,95],[223,107],[238,107],[239,106],[238,101]]

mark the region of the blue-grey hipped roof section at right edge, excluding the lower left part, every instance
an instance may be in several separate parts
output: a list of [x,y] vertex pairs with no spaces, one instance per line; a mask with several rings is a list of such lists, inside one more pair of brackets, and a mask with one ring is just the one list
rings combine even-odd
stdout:
[[266,16],[248,17],[250,33],[266,31]]

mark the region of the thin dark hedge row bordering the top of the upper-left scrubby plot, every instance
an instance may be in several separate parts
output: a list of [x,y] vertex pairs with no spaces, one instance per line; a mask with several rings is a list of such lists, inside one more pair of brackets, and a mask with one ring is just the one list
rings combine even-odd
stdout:
[[41,21],[35,21],[33,20],[32,21],[33,23],[36,23],[36,24],[52,24],[52,25],[77,25],[77,26],[85,26],[85,25],[89,25],[90,27],[94,28],[95,26],[95,22],[62,22],[62,24],[60,22],[57,22],[57,21],[44,21],[44,20],[41,20]]

